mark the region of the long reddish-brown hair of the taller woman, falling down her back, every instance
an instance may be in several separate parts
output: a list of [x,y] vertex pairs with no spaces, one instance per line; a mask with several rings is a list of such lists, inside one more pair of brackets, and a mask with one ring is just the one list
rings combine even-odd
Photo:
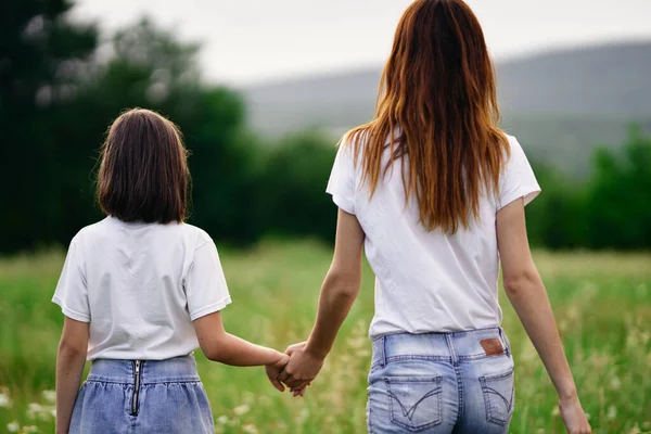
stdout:
[[478,217],[482,191],[498,192],[509,154],[498,120],[493,62],[471,9],[416,0],[398,24],[374,119],[348,137],[371,196],[401,159],[405,196],[416,195],[421,224],[455,233]]

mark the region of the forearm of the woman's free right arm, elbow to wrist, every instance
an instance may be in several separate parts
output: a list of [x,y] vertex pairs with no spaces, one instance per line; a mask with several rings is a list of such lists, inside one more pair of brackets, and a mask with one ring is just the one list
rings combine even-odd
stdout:
[[562,399],[576,396],[576,386],[559,335],[549,297],[537,272],[505,289],[526,333]]

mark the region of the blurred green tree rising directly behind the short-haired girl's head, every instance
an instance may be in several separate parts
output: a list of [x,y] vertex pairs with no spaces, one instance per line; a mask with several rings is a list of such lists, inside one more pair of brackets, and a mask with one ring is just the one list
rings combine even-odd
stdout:
[[92,157],[111,119],[135,106],[158,111],[183,131],[194,186],[190,221],[221,239],[238,242],[253,237],[246,233],[246,220],[238,216],[253,157],[250,146],[242,145],[240,95],[204,84],[196,59],[199,46],[179,42],[149,20],[118,31],[105,49],[113,55],[86,77],[76,116],[60,119],[67,125],[69,141],[80,146],[71,148],[68,157],[82,159],[69,182],[86,186],[69,196],[79,214],[69,215],[65,237],[98,218],[88,182]]

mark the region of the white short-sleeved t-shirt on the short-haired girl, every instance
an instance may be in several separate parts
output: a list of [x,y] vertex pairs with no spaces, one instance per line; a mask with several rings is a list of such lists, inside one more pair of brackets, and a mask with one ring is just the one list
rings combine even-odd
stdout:
[[196,349],[192,321],[231,299],[203,230],[106,217],[71,242],[52,302],[90,322],[89,360],[163,360]]

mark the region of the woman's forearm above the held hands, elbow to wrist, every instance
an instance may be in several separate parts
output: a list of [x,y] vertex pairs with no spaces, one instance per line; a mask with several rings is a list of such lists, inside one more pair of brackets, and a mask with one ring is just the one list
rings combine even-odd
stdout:
[[342,323],[348,316],[355,298],[359,294],[359,276],[337,276],[329,272],[319,296],[319,310],[315,327],[307,341],[306,352],[326,358]]

